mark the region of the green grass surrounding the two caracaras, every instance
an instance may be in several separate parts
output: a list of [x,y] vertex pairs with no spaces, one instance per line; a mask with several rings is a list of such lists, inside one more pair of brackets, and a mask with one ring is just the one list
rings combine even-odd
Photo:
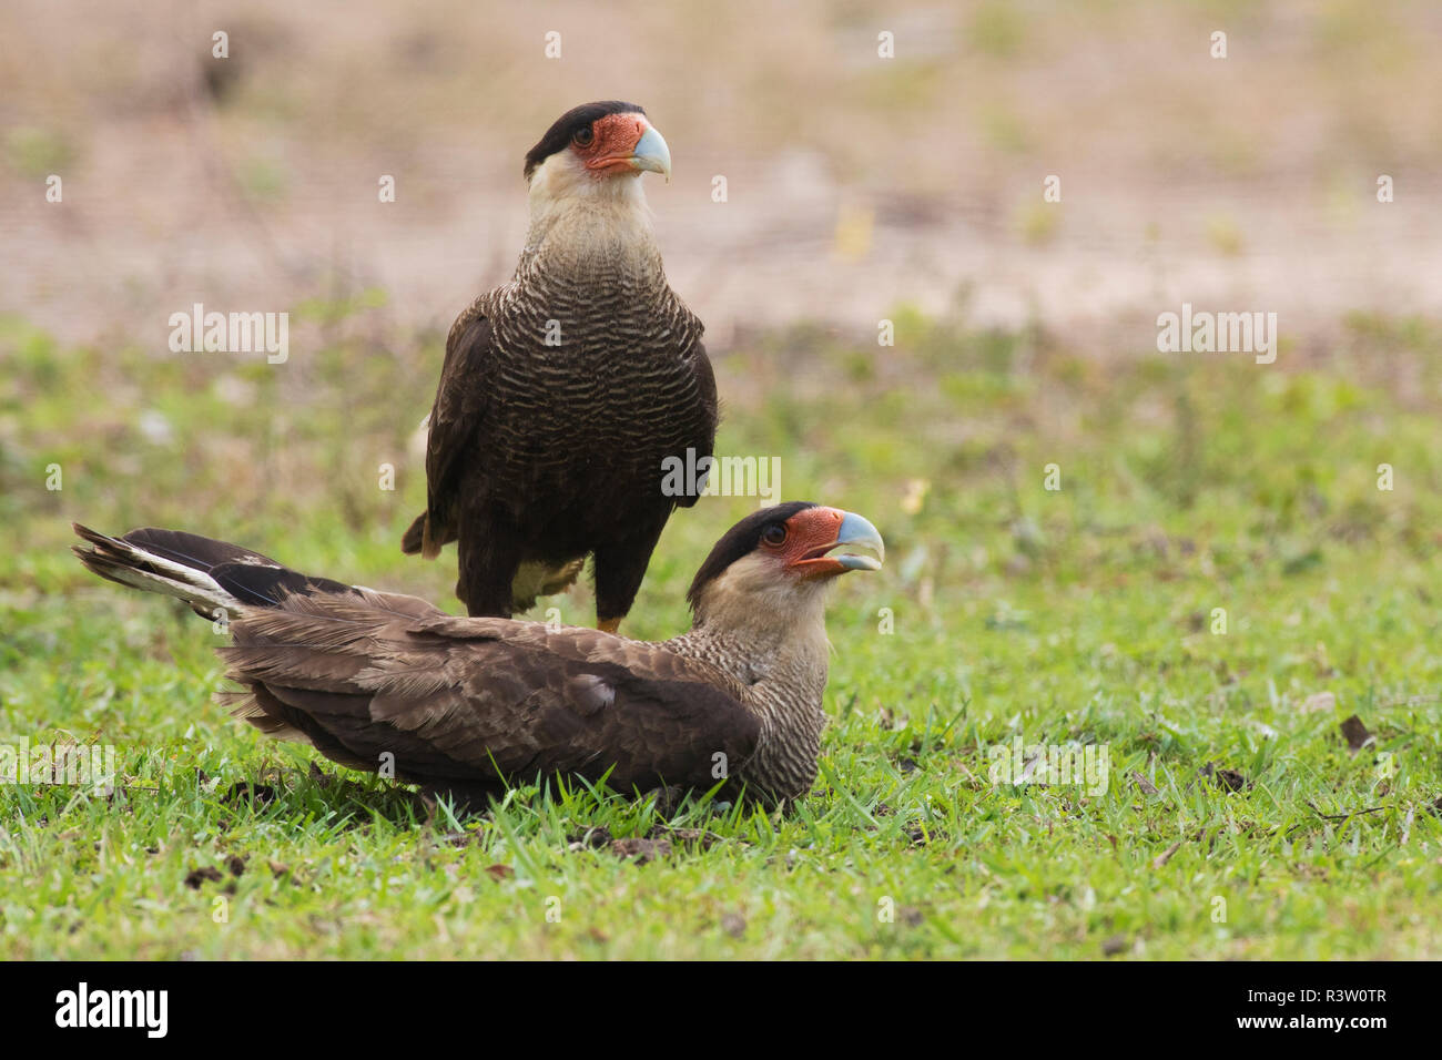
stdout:
[[[831,606],[818,790],[525,787],[456,821],[231,721],[221,637],[66,551],[71,519],[185,526],[456,610],[453,555],[397,548],[440,352],[386,346],[376,301],[297,324],[284,366],[0,324],[0,741],[112,744],[124,787],[0,787],[0,956],[1442,956],[1435,324],[1358,316],[1269,368],[906,310],[894,349],[757,340],[718,362],[721,451],[888,545]],[[684,627],[750,503],[678,513],[630,635]],[[994,785],[1018,736],[1103,746],[1106,790]]]

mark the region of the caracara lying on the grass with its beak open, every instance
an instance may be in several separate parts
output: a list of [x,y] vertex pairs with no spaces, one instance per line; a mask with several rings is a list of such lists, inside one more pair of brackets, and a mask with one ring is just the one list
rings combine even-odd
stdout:
[[[234,643],[219,652],[244,691],[222,695],[236,717],[467,802],[557,774],[627,793],[805,795],[826,721],[826,588],[884,558],[859,515],[761,509],[696,571],[691,630],[650,643],[460,619],[182,531],[75,532],[92,545],[75,552],[95,574],[228,616]],[[842,545],[877,558],[831,555]]]

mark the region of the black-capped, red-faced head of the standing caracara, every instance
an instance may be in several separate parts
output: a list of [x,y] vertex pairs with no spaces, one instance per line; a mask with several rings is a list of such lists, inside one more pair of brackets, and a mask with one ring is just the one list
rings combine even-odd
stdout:
[[572,107],[526,153],[525,176],[532,189],[552,198],[610,190],[642,173],[671,180],[671,151],[646,111],[609,100]]

